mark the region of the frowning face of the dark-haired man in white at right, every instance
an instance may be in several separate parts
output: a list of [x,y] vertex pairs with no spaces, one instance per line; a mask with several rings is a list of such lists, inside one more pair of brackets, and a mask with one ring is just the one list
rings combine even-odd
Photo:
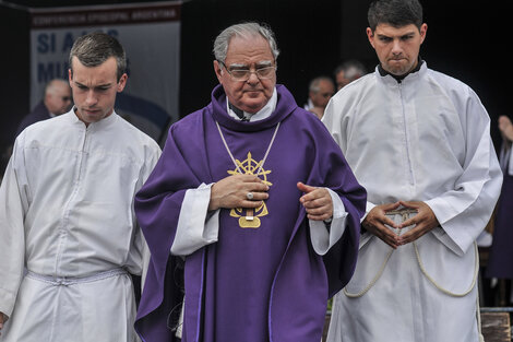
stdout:
[[414,24],[402,27],[379,24],[374,32],[367,27],[367,37],[378,55],[381,67],[401,76],[417,67],[420,45],[426,38],[427,30],[427,24],[422,24],[420,31]]

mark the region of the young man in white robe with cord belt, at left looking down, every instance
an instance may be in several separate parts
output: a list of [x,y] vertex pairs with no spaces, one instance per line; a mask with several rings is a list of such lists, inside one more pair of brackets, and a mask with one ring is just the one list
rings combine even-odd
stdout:
[[160,149],[114,110],[127,82],[103,33],[70,54],[75,106],[16,139],[0,188],[0,341],[138,341],[133,198]]

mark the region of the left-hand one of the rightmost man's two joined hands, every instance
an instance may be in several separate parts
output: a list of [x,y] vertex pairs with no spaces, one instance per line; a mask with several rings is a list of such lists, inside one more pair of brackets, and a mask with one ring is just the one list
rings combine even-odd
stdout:
[[366,228],[367,232],[378,236],[380,239],[383,240],[383,243],[394,249],[397,249],[397,247],[401,246],[397,239],[398,236],[389,227],[386,227],[385,224],[393,228],[397,228],[398,226],[390,217],[386,216],[386,212],[396,210],[399,207],[399,202],[377,205],[372,208],[372,210],[367,214],[363,222],[361,222],[362,227]]

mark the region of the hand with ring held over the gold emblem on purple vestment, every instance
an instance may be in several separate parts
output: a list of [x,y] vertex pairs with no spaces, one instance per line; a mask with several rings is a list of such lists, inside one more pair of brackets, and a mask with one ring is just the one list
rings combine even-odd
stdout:
[[[219,208],[259,208],[269,198],[267,191],[269,186],[256,176],[228,176],[212,186],[208,211]],[[248,199],[249,192],[252,193],[252,199]]]

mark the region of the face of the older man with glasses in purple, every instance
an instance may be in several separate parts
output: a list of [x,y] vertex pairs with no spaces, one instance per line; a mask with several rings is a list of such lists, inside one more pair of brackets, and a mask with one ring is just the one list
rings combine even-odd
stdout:
[[[247,69],[255,71],[260,68],[275,66],[271,47],[263,37],[232,37],[228,45],[225,66],[228,70]],[[247,81],[234,81],[225,67],[214,61],[217,80],[223,85],[228,101],[239,109],[254,114],[270,101],[276,85],[276,73],[271,79],[260,80],[252,72]]]

